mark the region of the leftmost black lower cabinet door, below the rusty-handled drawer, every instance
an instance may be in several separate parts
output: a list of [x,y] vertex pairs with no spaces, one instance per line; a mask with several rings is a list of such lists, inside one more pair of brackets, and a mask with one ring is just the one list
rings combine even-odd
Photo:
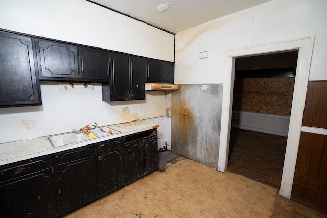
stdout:
[[1,217],[57,217],[58,186],[52,168],[0,184]]

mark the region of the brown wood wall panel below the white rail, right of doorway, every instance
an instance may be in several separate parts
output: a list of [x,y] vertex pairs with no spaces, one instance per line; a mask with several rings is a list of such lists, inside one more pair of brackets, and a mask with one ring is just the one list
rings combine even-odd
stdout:
[[292,198],[327,212],[327,135],[301,132]]

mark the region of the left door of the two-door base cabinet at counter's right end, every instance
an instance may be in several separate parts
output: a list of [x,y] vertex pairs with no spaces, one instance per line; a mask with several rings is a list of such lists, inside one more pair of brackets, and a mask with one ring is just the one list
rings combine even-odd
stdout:
[[143,140],[131,142],[125,146],[126,183],[144,176]]

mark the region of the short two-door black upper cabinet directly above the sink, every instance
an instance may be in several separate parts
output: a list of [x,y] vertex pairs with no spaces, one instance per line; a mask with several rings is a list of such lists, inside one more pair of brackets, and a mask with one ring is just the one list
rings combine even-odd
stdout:
[[108,52],[36,39],[40,80],[108,81]]

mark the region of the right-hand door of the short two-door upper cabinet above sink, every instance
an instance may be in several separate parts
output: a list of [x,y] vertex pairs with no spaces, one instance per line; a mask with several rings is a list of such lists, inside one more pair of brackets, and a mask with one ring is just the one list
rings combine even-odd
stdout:
[[108,52],[90,47],[79,47],[80,78],[108,81]]

